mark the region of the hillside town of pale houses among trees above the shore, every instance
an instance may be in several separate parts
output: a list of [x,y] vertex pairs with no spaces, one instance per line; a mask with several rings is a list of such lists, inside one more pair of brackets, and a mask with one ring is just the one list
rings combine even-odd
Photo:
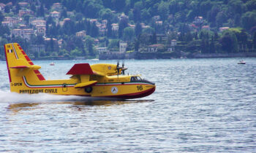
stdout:
[[255,27],[250,27],[251,33],[225,24],[211,28],[203,16],[174,26],[172,14],[165,20],[154,15],[146,23],[135,23],[135,10],[129,15],[102,9],[101,16],[92,18],[68,10],[67,1],[65,5],[61,1],[0,3],[0,42],[18,42],[36,59],[187,58],[255,52]]

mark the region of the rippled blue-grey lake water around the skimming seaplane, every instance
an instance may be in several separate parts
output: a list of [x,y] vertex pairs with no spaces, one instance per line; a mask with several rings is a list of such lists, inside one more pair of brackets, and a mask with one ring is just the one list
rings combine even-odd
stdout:
[[[0,152],[256,152],[256,58],[126,60],[155,93],[129,101],[10,93],[0,62]],[[45,79],[74,63],[34,61]]]

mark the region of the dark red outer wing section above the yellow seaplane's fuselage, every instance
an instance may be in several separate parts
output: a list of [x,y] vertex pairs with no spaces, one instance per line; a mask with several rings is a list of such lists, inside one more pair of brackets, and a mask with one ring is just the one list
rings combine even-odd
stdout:
[[94,74],[91,70],[91,66],[89,63],[76,63],[68,72],[67,74],[72,75],[82,75],[82,74]]

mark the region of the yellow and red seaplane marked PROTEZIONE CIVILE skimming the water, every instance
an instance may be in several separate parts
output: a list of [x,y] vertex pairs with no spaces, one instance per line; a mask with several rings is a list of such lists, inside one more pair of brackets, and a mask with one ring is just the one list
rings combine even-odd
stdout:
[[117,64],[76,63],[67,72],[69,79],[46,80],[18,43],[4,45],[10,91],[49,93],[104,98],[142,98],[154,93],[156,85],[140,75],[127,75],[127,68]]

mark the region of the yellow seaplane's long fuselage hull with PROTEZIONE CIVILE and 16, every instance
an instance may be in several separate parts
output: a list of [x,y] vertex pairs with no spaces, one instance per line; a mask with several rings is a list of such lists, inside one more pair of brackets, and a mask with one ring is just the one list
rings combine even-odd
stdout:
[[154,93],[155,85],[145,82],[113,82],[98,83],[86,92],[86,88],[75,88],[75,82],[69,80],[47,80],[43,82],[29,82],[25,76],[17,83],[10,82],[12,92],[15,93],[48,93],[54,95],[80,95],[108,98],[142,98]]

